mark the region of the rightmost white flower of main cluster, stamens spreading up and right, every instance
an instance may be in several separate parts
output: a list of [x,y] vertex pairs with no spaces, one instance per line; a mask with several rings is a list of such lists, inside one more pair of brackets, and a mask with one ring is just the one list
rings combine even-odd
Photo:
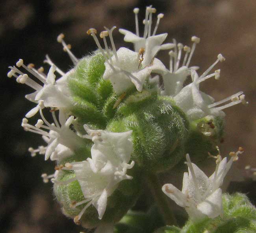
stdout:
[[[213,97],[199,90],[199,84],[202,81],[205,81],[210,77],[215,77],[215,79],[219,79],[220,70],[215,70],[214,73],[208,75],[210,70],[215,64],[217,64],[218,61],[224,61],[224,58],[221,54],[218,55],[217,61],[215,61],[213,65],[211,65],[210,68],[208,68],[208,70],[206,70],[200,77],[198,77],[198,74],[195,70],[192,70],[192,83],[182,88],[182,90],[180,90],[180,92],[173,97],[176,105],[179,106],[186,113],[186,116],[191,121],[200,119],[208,115],[223,117],[225,116],[224,112],[222,111],[223,109],[233,105],[237,105],[239,103],[248,103],[245,101],[245,95],[243,95],[243,92],[238,92],[221,101],[214,102]],[[226,103],[227,101],[231,102],[222,106],[218,106]]]

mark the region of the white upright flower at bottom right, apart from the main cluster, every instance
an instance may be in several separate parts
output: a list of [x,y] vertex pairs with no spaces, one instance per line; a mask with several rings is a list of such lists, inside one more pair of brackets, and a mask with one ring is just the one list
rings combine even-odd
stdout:
[[182,191],[172,184],[163,185],[162,191],[174,200],[176,204],[184,207],[193,221],[200,220],[206,216],[209,218],[223,216],[222,190],[220,186],[233,161],[236,161],[238,154],[241,153],[243,153],[243,149],[240,147],[236,153],[231,152],[230,156],[232,158],[228,162],[226,157],[221,160],[219,154],[213,156],[217,159],[216,169],[209,178],[197,165],[191,163],[187,154],[188,172],[184,172]]

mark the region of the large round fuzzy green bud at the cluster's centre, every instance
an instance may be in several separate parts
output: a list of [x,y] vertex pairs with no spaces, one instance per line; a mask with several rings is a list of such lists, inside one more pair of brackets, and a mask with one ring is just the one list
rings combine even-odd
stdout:
[[184,113],[171,98],[159,97],[148,89],[122,101],[107,130],[133,130],[132,159],[140,167],[160,172],[173,167],[184,156],[188,127]]

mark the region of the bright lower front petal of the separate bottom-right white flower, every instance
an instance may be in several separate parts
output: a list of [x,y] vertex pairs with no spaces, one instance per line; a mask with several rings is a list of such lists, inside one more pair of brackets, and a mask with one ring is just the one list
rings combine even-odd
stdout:
[[197,205],[197,209],[209,218],[215,218],[219,215],[223,215],[221,189],[217,189],[214,193],[208,196],[204,202],[199,203]]

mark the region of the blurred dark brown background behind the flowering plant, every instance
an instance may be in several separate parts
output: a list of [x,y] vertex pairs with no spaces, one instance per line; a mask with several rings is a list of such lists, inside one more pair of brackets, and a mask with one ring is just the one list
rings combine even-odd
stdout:
[[[165,16],[158,33],[167,32],[166,42],[172,38],[191,45],[191,36],[201,38],[191,65],[206,70],[217,55],[226,57],[221,79],[202,83],[202,90],[219,101],[240,90],[246,94],[249,106],[236,105],[226,112],[226,134],[221,145],[222,154],[245,150],[236,163],[236,179],[244,177],[244,167],[256,167],[256,1],[254,0],[2,0],[0,3],[0,224],[2,233],[75,233],[82,228],[62,215],[53,200],[51,183],[44,184],[41,174],[52,173],[54,164],[44,162],[43,156],[31,158],[28,147],[41,145],[41,138],[25,132],[20,126],[22,117],[33,107],[24,98],[31,93],[25,85],[8,79],[8,66],[20,58],[36,67],[43,64],[45,55],[64,71],[72,62],[56,41],[59,33],[72,44],[76,57],[96,49],[89,28],[103,30],[103,26],[135,31],[134,7],[141,9],[152,4],[157,13]],[[141,24],[142,26],[142,24]],[[114,33],[116,47],[124,45],[123,36]],[[132,48],[132,44],[126,44]],[[160,59],[168,66],[167,52]],[[45,66],[46,68],[47,66]],[[217,68],[216,68],[217,69]],[[230,192],[247,193],[255,204],[256,185],[250,179],[231,183]]]

